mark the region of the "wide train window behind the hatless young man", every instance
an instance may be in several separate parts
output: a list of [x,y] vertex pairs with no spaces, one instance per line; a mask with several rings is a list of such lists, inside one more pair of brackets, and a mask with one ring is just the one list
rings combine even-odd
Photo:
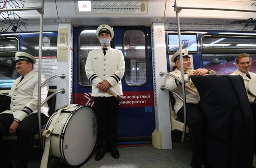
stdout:
[[235,57],[247,53],[250,56],[250,71],[256,71],[256,36],[202,36],[202,66],[216,71],[217,75],[231,74],[237,67]]

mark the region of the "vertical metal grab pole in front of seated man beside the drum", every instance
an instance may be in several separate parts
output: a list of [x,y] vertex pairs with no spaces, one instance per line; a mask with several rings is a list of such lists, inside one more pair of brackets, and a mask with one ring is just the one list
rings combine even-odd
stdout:
[[44,0],[41,0],[41,7],[43,8],[40,13],[40,34],[39,34],[39,54],[38,54],[38,94],[37,94],[37,117],[39,137],[41,142],[41,148],[44,149],[42,132],[41,132],[41,63],[42,63],[42,42],[43,42],[43,15],[44,15]]

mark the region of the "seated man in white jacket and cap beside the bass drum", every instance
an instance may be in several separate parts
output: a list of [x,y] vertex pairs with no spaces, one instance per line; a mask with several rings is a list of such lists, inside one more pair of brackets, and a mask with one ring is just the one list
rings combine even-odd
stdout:
[[[8,160],[8,151],[2,135],[17,135],[19,157],[16,168],[27,168],[27,161],[34,144],[34,134],[38,134],[37,119],[37,86],[38,73],[33,70],[36,60],[31,54],[17,52],[15,54],[15,68],[20,74],[9,96],[11,96],[10,110],[0,113],[0,168],[13,168]],[[42,82],[46,80],[41,76]],[[48,86],[41,87],[41,101],[47,97]],[[41,123],[46,123],[48,106],[41,107]]]

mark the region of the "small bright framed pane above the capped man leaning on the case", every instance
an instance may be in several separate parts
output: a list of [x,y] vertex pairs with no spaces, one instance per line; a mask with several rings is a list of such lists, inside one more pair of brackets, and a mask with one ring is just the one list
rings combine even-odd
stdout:
[[[175,53],[179,50],[179,37],[177,33],[168,33],[168,52]],[[198,35],[196,33],[182,33],[182,48],[189,53],[198,53]]]

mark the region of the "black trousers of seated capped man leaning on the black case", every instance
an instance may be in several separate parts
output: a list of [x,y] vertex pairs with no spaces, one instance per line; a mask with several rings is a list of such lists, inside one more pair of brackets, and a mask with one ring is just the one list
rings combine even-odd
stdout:
[[[177,113],[178,118],[183,121],[183,107]],[[197,164],[199,161],[204,162],[204,141],[206,119],[199,107],[199,104],[186,104],[186,122],[189,127],[189,135],[193,150],[192,164]]]

